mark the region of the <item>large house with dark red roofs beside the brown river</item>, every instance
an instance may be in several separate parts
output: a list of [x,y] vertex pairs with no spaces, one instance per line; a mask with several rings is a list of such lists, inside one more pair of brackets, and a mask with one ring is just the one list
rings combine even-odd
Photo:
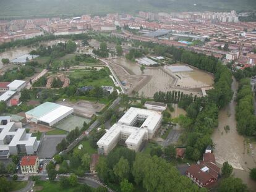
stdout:
[[211,153],[209,146],[203,154],[203,161],[191,165],[186,175],[200,187],[211,188],[217,182],[220,168],[216,165],[215,156]]

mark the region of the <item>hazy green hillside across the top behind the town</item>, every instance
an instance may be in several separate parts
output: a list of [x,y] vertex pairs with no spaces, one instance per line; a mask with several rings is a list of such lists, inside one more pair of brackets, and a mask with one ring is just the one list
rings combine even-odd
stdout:
[[[196,6],[194,5],[196,4]],[[253,10],[255,0],[1,0],[0,17],[53,17],[109,12]]]

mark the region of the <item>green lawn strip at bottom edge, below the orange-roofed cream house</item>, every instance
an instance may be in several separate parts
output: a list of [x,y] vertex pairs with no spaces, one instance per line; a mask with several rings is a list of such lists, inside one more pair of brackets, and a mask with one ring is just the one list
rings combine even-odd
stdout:
[[74,192],[79,188],[80,184],[75,187],[70,188],[61,188],[61,185],[59,182],[43,182],[40,181],[36,183],[35,185],[35,191],[40,192],[56,192],[56,191],[62,191],[62,192]]

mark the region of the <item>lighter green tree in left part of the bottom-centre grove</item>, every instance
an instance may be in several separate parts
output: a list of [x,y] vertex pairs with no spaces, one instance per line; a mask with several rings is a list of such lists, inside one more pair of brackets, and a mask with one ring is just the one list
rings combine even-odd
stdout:
[[123,180],[124,178],[128,178],[130,172],[130,166],[127,159],[121,157],[119,162],[114,166],[114,174],[119,178],[119,180]]

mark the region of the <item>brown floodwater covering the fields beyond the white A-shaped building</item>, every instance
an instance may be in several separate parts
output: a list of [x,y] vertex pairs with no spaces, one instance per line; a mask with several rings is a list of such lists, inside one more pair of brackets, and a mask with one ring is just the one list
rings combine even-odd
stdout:
[[146,67],[144,73],[142,73],[139,64],[127,61],[125,58],[113,59],[112,61],[124,67],[131,75],[147,75],[150,77],[139,90],[140,95],[150,98],[152,98],[157,91],[179,91],[180,88],[184,88],[181,91],[186,94],[193,93],[200,95],[200,90],[186,89],[213,85],[213,75],[195,68],[193,68],[193,72],[177,74],[179,75],[178,78],[175,74],[167,72],[163,67]]

